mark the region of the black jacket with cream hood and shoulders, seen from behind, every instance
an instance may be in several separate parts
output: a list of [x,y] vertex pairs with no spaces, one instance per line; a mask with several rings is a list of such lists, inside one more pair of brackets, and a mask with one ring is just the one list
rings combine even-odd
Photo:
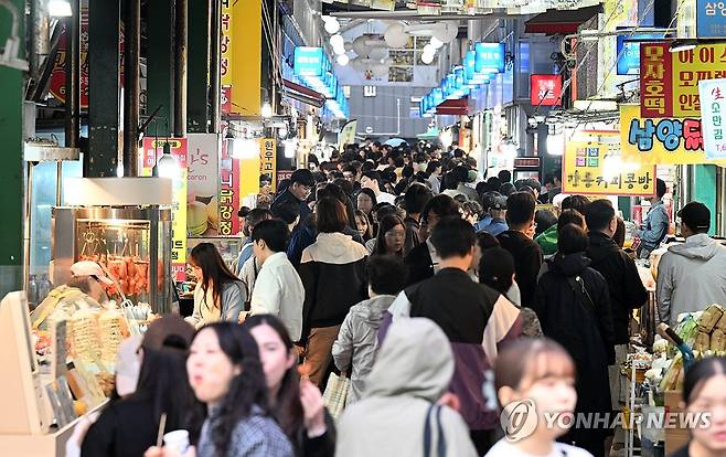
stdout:
[[343,323],[353,305],[367,297],[365,246],[342,233],[321,233],[300,262],[305,287],[302,340],[312,328]]

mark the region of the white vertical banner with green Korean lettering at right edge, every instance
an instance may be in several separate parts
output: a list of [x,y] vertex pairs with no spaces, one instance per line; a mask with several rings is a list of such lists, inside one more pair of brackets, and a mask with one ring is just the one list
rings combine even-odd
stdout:
[[726,79],[698,83],[704,149],[707,159],[726,159]]

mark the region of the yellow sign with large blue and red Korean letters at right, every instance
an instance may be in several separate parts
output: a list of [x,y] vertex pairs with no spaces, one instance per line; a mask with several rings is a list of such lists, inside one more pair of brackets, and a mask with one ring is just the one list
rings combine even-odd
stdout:
[[640,105],[620,105],[620,150],[623,160],[645,164],[726,163],[706,159],[701,116],[643,119]]

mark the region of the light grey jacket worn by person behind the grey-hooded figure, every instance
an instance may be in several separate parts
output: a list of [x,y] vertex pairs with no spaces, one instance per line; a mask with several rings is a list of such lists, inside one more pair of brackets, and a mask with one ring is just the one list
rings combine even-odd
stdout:
[[388,309],[396,297],[380,295],[353,306],[333,343],[333,360],[341,371],[348,371],[354,360],[350,373],[351,387],[348,391],[348,404],[356,402],[363,394],[365,378],[373,369],[373,360],[377,347],[376,334],[383,312]]

